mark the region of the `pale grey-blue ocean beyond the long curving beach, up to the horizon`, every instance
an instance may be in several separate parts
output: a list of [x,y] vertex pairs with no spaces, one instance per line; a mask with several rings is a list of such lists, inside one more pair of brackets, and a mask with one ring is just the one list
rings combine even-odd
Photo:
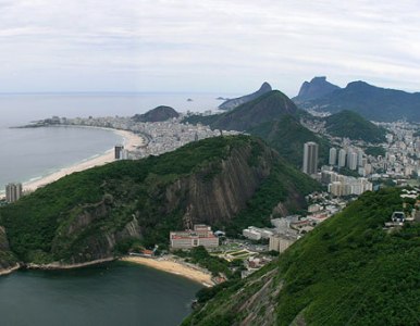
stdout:
[[[199,93],[64,93],[0,96],[0,195],[8,183],[25,183],[102,154],[121,136],[101,129],[26,128],[46,117],[132,116],[158,105],[180,112],[217,110],[219,95]],[[187,99],[193,101],[187,101]]]

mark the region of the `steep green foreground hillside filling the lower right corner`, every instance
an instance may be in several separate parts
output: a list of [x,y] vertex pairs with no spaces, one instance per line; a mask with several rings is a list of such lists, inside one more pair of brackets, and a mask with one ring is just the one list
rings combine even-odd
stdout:
[[201,291],[183,325],[419,325],[420,224],[383,229],[399,193],[367,192],[279,261]]

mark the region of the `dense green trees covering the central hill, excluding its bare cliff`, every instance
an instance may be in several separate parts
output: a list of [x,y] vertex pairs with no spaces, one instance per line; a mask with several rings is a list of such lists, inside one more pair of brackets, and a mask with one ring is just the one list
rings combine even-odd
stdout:
[[[92,251],[101,252],[109,246],[110,237],[123,241],[116,249],[129,247],[128,235],[120,233],[134,218],[140,227],[137,237],[143,246],[165,247],[169,231],[185,227],[183,216],[188,204],[181,192],[176,192],[181,189],[173,190],[174,199],[169,202],[168,188],[192,175],[203,185],[211,183],[221,173],[222,161],[240,149],[251,149],[248,162],[244,163],[249,164],[249,168],[274,164],[274,170],[280,171],[274,175],[282,178],[276,177],[279,184],[269,187],[265,184],[270,185],[272,178],[268,178],[250,199],[250,209],[247,206],[240,212],[244,220],[234,218],[232,228],[242,227],[250,221],[249,216],[256,216],[254,202],[261,204],[260,210],[270,212],[277,203],[273,199],[284,199],[287,192],[301,198],[317,187],[279,158],[261,163],[262,153],[271,151],[260,140],[248,136],[217,137],[160,156],[119,161],[72,174],[15,204],[1,208],[0,225],[7,228],[12,251],[27,262],[74,261],[75,255],[79,261],[90,260],[95,256]],[[295,187],[297,183],[302,186]],[[273,193],[267,195],[267,189]],[[299,192],[301,189],[305,193]],[[269,200],[265,201],[265,197]],[[265,203],[271,206],[263,206]],[[286,206],[298,208],[299,203],[291,202]],[[258,218],[268,221],[269,215]]]

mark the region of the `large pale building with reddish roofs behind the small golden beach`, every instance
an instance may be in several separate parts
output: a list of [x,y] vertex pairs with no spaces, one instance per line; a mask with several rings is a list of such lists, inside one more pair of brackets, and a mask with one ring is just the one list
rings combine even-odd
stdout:
[[190,249],[198,246],[219,247],[219,238],[211,227],[203,224],[194,225],[194,229],[170,233],[171,249]]

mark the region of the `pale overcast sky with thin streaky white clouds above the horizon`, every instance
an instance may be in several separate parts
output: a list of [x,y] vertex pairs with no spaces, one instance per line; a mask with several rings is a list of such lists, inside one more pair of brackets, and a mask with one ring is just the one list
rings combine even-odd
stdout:
[[420,91],[420,2],[0,0],[0,92]]

